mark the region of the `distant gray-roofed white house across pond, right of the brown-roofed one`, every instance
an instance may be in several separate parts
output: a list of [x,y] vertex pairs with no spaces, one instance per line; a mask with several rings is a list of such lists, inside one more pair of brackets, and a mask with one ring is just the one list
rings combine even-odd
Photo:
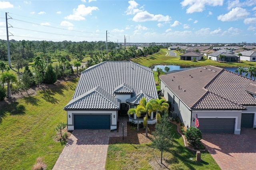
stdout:
[[[220,58],[220,55],[225,55],[225,58]],[[214,61],[227,61],[227,62],[237,62],[238,57],[236,55],[233,55],[231,53],[225,53],[223,51],[217,51],[215,53],[208,54],[208,59],[214,60]]]

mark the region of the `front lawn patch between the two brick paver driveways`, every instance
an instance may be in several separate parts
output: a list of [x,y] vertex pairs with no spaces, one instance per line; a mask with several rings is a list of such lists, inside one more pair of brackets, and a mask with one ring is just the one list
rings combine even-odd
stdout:
[[[209,154],[201,152],[201,162],[196,161],[196,152],[184,147],[182,136],[177,133],[176,125],[172,125],[172,134],[174,141],[168,152],[163,153],[168,168],[178,170],[220,170],[220,167]],[[150,170],[152,162],[155,163],[153,154],[160,158],[160,152],[148,144],[110,144],[106,159],[106,170],[132,169],[132,170]],[[190,160],[192,158],[192,160]],[[151,163],[151,164],[150,164]],[[159,167],[159,166],[156,166]]]

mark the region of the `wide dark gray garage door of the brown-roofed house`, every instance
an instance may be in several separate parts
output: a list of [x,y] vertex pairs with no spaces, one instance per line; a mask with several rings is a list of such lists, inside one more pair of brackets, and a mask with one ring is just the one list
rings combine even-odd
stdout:
[[234,133],[234,118],[198,118],[202,133]]

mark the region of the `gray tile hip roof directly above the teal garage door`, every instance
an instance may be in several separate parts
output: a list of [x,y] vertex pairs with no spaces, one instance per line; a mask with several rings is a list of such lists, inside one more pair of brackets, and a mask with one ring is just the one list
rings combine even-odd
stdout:
[[72,99],[64,109],[119,109],[120,101],[100,86]]

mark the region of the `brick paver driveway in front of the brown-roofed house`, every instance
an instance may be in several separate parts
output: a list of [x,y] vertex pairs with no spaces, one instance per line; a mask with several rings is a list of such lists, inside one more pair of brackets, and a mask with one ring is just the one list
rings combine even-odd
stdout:
[[203,134],[202,142],[222,170],[255,170],[256,130],[235,134]]

